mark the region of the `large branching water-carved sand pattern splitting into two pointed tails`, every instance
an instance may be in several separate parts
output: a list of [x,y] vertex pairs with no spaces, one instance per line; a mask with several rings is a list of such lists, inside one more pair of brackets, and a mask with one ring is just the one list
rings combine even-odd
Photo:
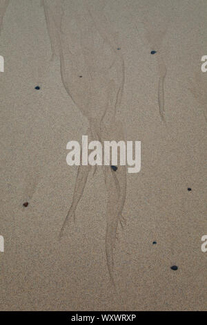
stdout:
[[[124,90],[124,59],[117,50],[117,33],[104,15],[105,1],[43,0],[52,57],[59,57],[61,79],[68,95],[87,118],[88,140],[124,140],[116,120]],[[83,195],[91,166],[79,166],[75,191],[60,236],[66,232]],[[113,171],[102,166],[108,193],[106,208],[106,261],[115,286],[113,253],[126,198],[126,167]]]

